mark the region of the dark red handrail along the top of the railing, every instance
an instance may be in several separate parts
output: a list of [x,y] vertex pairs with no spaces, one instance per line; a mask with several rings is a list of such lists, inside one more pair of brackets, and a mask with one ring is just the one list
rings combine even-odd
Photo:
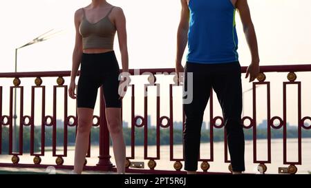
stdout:
[[[243,73],[246,72],[247,67],[241,67]],[[311,64],[304,65],[265,65],[261,66],[261,72],[311,72]],[[134,74],[135,70],[129,70],[130,74]],[[150,72],[157,74],[162,72],[175,72],[174,68],[154,68],[154,69],[140,69],[139,75]],[[137,74],[137,72],[135,72]],[[79,75],[79,72],[78,72]],[[55,77],[55,76],[70,76],[70,71],[42,71],[42,72],[0,72],[0,78],[27,78],[27,77]]]

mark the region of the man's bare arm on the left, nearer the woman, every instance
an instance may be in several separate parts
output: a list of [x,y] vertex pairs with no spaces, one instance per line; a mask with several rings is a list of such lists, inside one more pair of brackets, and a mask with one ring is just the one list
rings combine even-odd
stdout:
[[182,11],[180,15],[180,23],[178,26],[177,33],[177,54],[176,54],[176,73],[179,75],[183,72],[182,67],[182,56],[184,55],[185,48],[188,41],[188,30],[189,30],[189,7],[187,0],[180,0],[182,4]]

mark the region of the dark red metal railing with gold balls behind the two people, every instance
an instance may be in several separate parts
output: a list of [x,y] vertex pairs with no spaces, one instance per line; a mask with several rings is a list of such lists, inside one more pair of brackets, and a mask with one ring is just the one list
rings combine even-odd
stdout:
[[[246,72],[247,67],[242,67],[242,72]],[[157,74],[162,74],[166,72],[168,74],[173,73],[174,69],[146,69],[140,70],[140,75],[142,74],[151,74],[149,76],[149,84],[144,85],[144,90],[148,92],[149,86],[156,86],[157,93],[160,93],[160,83],[156,82]],[[283,164],[290,165],[288,167],[288,173],[295,174],[297,171],[296,165],[302,164],[301,159],[301,130],[302,129],[311,129],[310,127],[305,126],[305,121],[311,121],[310,116],[301,117],[301,81],[296,81],[296,74],[294,72],[311,72],[311,65],[281,65],[281,66],[263,66],[261,67],[261,74],[258,76],[256,82],[253,83],[253,115],[252,117],[245,116],[243,117],[243,125],[245,129],[252,129],[253,132],[253,149],[254,149],[254,161],[253,163],[259,164],[258,166],[263,169],[263,171],[267,170],[266,164],[272,162],[271,160],[271,131],[272,129],[281,129],[283,128]],[[272,116],[271,114],[271,97],[270,97],[270,82],[265,81],[266,76],[265,73],[267,72],[289,72],[288,73],[288,81],[283,82],[283,118],[279,116]],[[130,71],[131,74],[137,75],[137,72],[134,70]],[[41,165],[41,158],[40,156],[44,156],[45,152],[45,128],[46,127],[53,127],[53,157],[56,157],[56,165],[55,167],[64,168],[64,169],[72,169],[72,166],[63,165],[64,158],[67,156],[67,147],[68,147],[68,140],[67,140],[67,133],[68,127],[76,127],[77,128],[77,114],[76,116],[68,116],[68,94],[67,94],[67,85],[64,85],[64,77],[70,76],[70,72],[19,72],[19,73],[0,73],[0,79],[9,78],[13,79],[13,86],[10,86],[10,113],[9,115],[4,115],[2,113],[3,105],[3,85],[0,85],[0,154],[1,154],[1,140],[2,140],[2,129],[5,126],[8,126],[9,129],[9,155],[12,156],[12,163],[0,163],[0,167],[48,167],[50,165]],[[53,114],[47,115],[45,112],[46,107],[46,87],[50,85],[42,85],[42,79],[45,77],[57,77],[57,85],[53,85]],[[21,80],[23,78],[35,78],[35,86],[31,86],[31,113],[30,116],[23,114],[23,89],[25,86],[21,86]],[[153,82],[154,81],[154,82]],[[182,161],[184,158],[175,158],[174,157],[174,147],[173,147],[173,87],[181,85],[181,83],[177,83],[176,79],[174,79],[174,83],[169,85],[169,116],[160,116],[160,95],[157,95],[156,98],[156,156],[151,157],[148,154],[148,95],[144,96],[144,113],[143,116],[136,116],[135,115],[135,85],[130,85],[132,88],[131,90],[131,154],[126,158],[126,171],[128,172],[142,172],[142,173],[151,173],[151,174],[159,174],[159,173],[166,173],[166,174],[175,174],[175,173],[184,173],[181,171],[182,169]],[[258,160],[257,159],[257,138],[256,138],[256,87],[258,85],[265,85],[267,87],[267,160]],[[286,107],[286,88],[288,85],[297,85],[298,86],[298,160],[297,161],[288,161],[287,159],[287,116],[286,112],[288,108]],[[13,143],[13,90],[20,90],[20,112],[19,116],[19,152],[15,153],[12,151],[12,143]],[[42,92],[42,101],[41,101],[41,151],[39,153],[35,153],[35,90],[41,90]],[[63,153],[57,154],[57,91],[64,90],[64,146],[63,146]],[[94,116],[97,123],[94,123],[94,127],[100,127],[100,155],[98,156],[99,162],[96,166],[88,166],[86,165],[85,169],[92,169],[92,170],[102,170],[102,171],[115,171],[113,164],[110,161],[110,154],[109,154],[109,132],[106,125],[106,117],[105,117],[105,109],[104,109],[104,98],[102,96],[102,90],[100,95],[100,116]],[[202,162],[200,167],[204,171],[204,173],[208,173],[209,169],[209,162],[214,161],[214,129],[222,129],[224,127],[223,118],[220,116],[214,117],[214,107],[213,102],[214,96],[213,92],[211,92],[211,98],[209,103],[209,118],[210,118],[210,125],[209,125],[209,134],[210,134],[210,156],[209,158],[200,158],[199,161]],[[124,112],[123,112],[124,113]],[[71,120],[71,121],[70,121]],[[138,120],[141,123],[138,124]],[[216,124],[216,121],[220,120],[220,125]],[[280,122],[279,125],[274,125],[274,122],[278,120]],[[163,122],[167,121],[164,125]],[[183,116],[182,122],[185,121],[185,117]],[[249,125],[245,125],[245,121],[249,121]],[[27,123],[28,122],[28,123]],[[19,156],[23,155],[23,127],[30,126],[30,155],[34,156],[34,164],[19,164]],[[135,127],[143,127],[144,128],[144,159],[149,160],[148,167],[149,169],[131,169],[130,160],[135,159]],[[185,127],[183,127],[185,128]],[[160,130],[161,129],[169,129],[169,160],[175,162],[173,168],[175,170],[157,170],[156,169],[156,160],[160,160]],[[225,134],[225,133],[224,133]],[[228,159],[227,153],[227,138],[225,138],[225,163],[230,163]],[[88,149],[87,156],[91,156],[91,144]],[[229,169],[231,169],[229,165]]]

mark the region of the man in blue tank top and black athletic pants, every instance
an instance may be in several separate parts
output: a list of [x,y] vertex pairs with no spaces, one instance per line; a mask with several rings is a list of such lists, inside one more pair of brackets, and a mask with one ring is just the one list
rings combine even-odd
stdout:
[[[184,72],[181,62],[188,42],[184,90],[186,91],[189,85],[193,88],[190,91],[193,96],[191,103],[184,103],[185,170],[188,174],[196,174],[198,169],[202,118],[213,88],[223,110],[233,174],[241,174],[245,171],[245,163],[236,10],[241,16],[243,30],[252,53],[252,63],[247,69],[245,78],[249,76],[249,82],[252,82],[259,73],[256,33],[247,0],[180,1],[182,12],[178,28],[176,73],[179,75]],[[187,77],[190,72],[193,82],[188,83]]]

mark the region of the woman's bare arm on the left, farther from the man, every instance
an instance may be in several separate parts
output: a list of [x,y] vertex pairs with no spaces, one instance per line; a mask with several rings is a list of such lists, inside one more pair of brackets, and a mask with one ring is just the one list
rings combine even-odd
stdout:
[[82,36],[79,33],[79,25],[80,25],[80,18],[82,16],[82,10],[77,10],[75,12],[75,48],[73,50],[73,67],[71,69],[71,76],[70,76],[70,87],[68,89],[69,96],[71,98],[75,97],[75,78],[77,76],[77,72],[79,69],[79,65],[81,63],[83,48],[82,48]]

